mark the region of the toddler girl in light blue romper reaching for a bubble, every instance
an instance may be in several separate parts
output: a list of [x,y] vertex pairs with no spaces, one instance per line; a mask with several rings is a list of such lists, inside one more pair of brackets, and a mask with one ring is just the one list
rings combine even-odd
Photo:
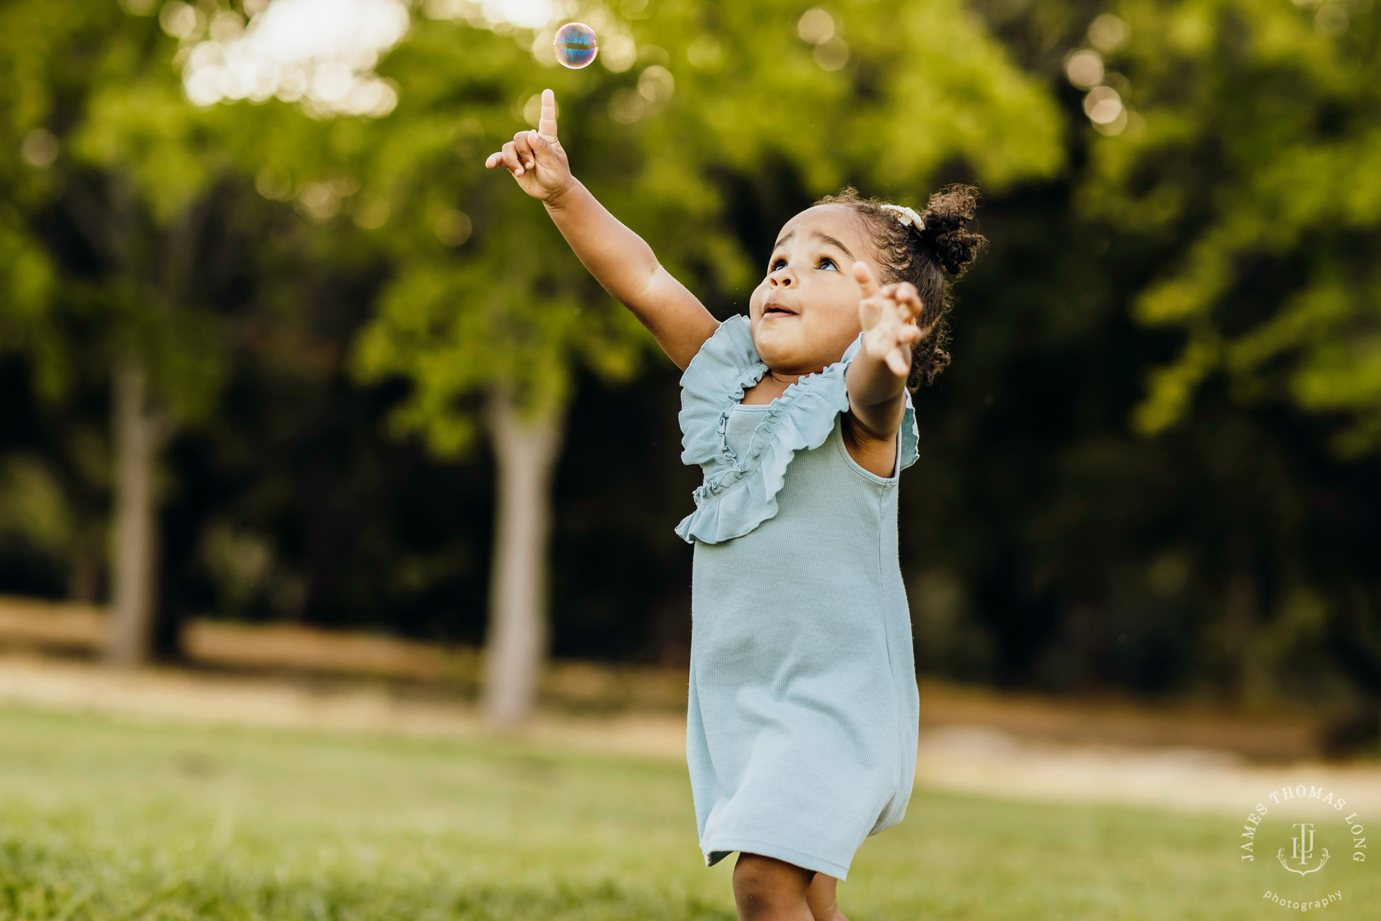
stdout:
[[[924,214],[820,199],[786,223],[749,315],[722,324],[574,180],[555,98],[492,154],[681,376],[677,534],[695,545],[686,761],[706,866],[737,850],[740,918],[845,921],[837,880],[900,821],[918,700],[896,546],[911,391],[949,362],[945,271],[986,241],[974,191]],[[885,282],[880,286],[880,282]],[[787,476],[790,472],[790,476]]]

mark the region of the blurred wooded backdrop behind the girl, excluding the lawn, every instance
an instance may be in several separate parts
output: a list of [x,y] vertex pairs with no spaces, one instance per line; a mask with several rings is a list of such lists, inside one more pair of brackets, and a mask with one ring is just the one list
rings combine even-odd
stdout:
[[494,722],[562,664],[684,707],[679,372],[483,169],[550,86],[576,176],[721,319],[819,195],[983,191],[902,490],[923,676],[1375,751],[1371,0],[0,17],[7,644],[330,671],[376,638]]

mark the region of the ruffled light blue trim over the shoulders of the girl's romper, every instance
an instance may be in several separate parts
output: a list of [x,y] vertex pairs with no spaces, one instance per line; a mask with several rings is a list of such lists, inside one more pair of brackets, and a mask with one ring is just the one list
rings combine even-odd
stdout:
[[[677,525],[686,543],[720,543],[742,537],[778,513],[776,495],[797,451],[824,444],[834,416],[849,408],[844,372],[863,344],[863,333],[840,361],[802,375],[772,401],[758,423],[747,456],[729,448],[729,412],[762,379],[766,365],[753,346],[749,318],[736,314],[714,331],[681,375],[681,462],[699,463],[704,483],[692,494],[696,510]],[[920,436],[911,394],[902,419],[900,469],[916,462]]]

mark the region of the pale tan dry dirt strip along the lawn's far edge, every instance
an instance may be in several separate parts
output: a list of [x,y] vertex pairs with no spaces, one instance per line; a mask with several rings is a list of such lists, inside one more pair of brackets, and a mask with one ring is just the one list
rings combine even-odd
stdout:
[[[921,727],[916,783],[1018,799],[1106,802],[1239,816],[1272,790],[1298,783],[1327,784],[1358,809],[1381,812],[1381,768],[1295,759],[1251,763],[1240,752],[1214,747],[1123,745],[1108,741],[1037,738],[1033,726],[1074,733],[1077,711],[1058,720],[1027,700],[1022,732],[964,723],[979,691],[932,686],[932,718],[943,693],[968,697],[972,709],[945,709],[949,722]],[[927,691],[923,689],[923,698]],[[249,675],[207,675],[191,669],[145,668],[116,672],[91,662],[54,661],[32,654],[0,655],[0,701],[59,711],[101,712],[134,719],[294,727],[304,732],[370,732],[449,738],[490,738],[474,708],[454,700],[400,696],[384,685],[304,683]],[[990,700],[992,703],[992,700]],[[1021,705],[1014,704],[1015,712]],[[1095,707],[1094,711],[1098,711]],[[1164,719],[1157,714],[1156,719]],[[1157,723],[1159,725],[1159,723]],[[1083,736],[1098,734],[1103,729]],[[533,744],[619,752],[684,763],[685,719],[671,714],[594,716],[543,712],[511,737]],[[1344,792],[1345,791],[1345,792]]]

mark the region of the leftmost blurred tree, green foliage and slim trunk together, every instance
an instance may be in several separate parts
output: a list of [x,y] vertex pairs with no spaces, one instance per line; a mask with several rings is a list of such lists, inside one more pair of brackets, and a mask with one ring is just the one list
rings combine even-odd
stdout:
[[[0,167],[11,202],[0,231],[11,270],[4,319],[40,390],[70,389],[79,368],[109,375],[106,657],[122,667],[148,655],[156,608],[159,454],[180,422],[210,409],[222,375],[204,304],[215,282],[207,239],[229,170],[224,116],[186,105],[167,35],[181,26],[153,12],[146,0],[19,1],[7,6],[0,40],[11,89],[4,147],[19,155]],[[87,332],[65,335],[75,324]]]

